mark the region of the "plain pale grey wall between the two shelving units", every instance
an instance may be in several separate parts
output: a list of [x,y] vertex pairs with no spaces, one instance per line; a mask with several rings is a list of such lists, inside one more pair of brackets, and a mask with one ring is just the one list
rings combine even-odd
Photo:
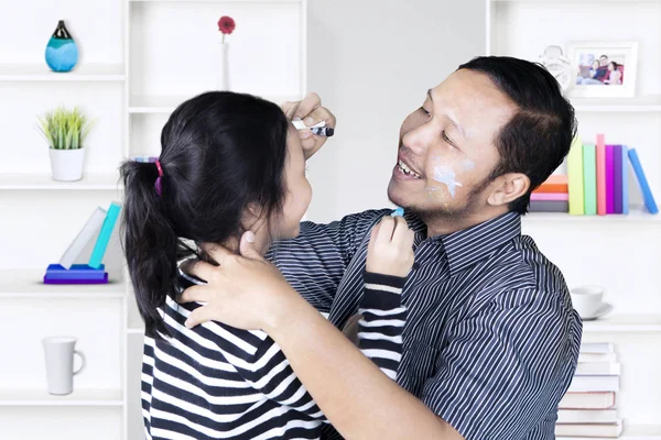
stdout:
[[391,206],[399,129],[429,88],[485,53],[484,0],[311,0],[307,89],[337,117],[310,161],[308,219]]

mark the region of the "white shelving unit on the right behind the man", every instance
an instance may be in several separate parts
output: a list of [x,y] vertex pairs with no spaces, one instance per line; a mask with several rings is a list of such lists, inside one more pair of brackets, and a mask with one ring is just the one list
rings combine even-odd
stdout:
[[[566,52],[571,41],[639,42],[635,98],[571,100],[583,141],[605,133],[607,143],[636,147],[652,191],[661,197],[661,1],[486,0],[485,8],[486,47],[492,55],[537,61],[552,44]],[[641,207],[638,185],[629,183],[638,205],[628,216],[534,212],[523,218],[523,232],[561,268],[570,287],[604,286],[614,311],[584,322],[583,339],[615,343],[622,364],[620,439],[661,440],[661,216]]]

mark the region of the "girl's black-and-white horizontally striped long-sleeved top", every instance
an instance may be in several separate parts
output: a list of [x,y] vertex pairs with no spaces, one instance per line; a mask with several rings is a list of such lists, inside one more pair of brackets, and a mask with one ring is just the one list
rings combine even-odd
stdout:
[[[182,274],[191,285],[194,278]],[[365,274],[359,348],[389,377],[401,359],[405,278]],[[167,298],[172,336],[144,339],[142,414],[148,439],[318,439],[324,415],[263,331],[220,322],[187,329],[199,304]]]

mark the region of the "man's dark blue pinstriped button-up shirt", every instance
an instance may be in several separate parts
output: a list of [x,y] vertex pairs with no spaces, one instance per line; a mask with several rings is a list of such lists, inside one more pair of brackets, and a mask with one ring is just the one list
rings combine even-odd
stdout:
[[[304,222],[270,258],[338,328],[357,312],[369,231],[390,210]],[[397,381],[467,440],[553,439],[582,322],[561,272],[508,212],[447,235],[415,231]],[[337,433],[327,432],[326,438]]]

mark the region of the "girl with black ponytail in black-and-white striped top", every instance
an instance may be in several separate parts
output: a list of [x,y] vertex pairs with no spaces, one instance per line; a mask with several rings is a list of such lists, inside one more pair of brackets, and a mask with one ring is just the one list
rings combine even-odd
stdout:
[[[205,283],[177,266],[205,257],[198,243],[237,252],[250,230],[266,253],[273,240],[299,233],[311,188],[296,130],[274,103],[207,92],[172,113],[161,147],[158,160],[121,167],[123,246],[145,322],[147,437],[318,438],[323,414],[264,332],[215,321],[187,329],[201,305],[176,302],[191,283]],[[398,224],[371,238],[380,252],[368,252],[359,326],[360,349],[392,378],[405,315],[400,293],[413,264],[413,233]]]

